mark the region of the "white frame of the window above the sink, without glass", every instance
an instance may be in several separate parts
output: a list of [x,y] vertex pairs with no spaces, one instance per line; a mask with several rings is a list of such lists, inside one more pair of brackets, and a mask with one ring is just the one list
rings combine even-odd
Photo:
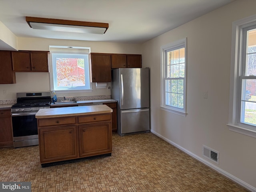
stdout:
[[[85,72],[85,79],[86,82],[88,82],[88,86],[79,86],[79,87],[63,87],[63,88],[57,88],[56,87],[56,76],[54,75],[56,73],[56,64],[54,63],[54,55],[58,56],[78,56],[79,58],[84,58],[84,72]],[[50,90],[55,91],[56,93],[70,93],[70,92],[92,92],[92,84],[90,82],[90,69],[89,69],[89,55],[87,53],[79,54],[79,53],[68,53],[68,52],[51,52],[50,58],[49,58],[49,72],[50,72]]]

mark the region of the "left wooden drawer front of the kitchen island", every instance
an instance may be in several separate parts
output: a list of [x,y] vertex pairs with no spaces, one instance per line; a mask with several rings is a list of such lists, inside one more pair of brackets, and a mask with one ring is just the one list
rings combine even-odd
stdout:
[[76,117],[38,119],[38,126],[75,124]]

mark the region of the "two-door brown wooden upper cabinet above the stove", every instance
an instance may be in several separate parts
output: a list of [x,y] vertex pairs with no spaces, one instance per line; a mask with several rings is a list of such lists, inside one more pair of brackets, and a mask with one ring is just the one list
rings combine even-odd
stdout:
[[48,72],[47,51],[12,51],[15,72]]

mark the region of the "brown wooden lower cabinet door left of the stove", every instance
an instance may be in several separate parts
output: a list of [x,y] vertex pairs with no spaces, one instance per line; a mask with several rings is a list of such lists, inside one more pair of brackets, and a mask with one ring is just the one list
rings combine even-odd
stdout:
[[11,110],[0,110],[0,147],[13,147]]

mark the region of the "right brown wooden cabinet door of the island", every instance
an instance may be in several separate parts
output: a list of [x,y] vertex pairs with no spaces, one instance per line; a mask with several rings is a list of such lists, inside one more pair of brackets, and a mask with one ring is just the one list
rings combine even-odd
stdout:
[[78,126],[79,156],[87,157],[112,152],[111,122]]

